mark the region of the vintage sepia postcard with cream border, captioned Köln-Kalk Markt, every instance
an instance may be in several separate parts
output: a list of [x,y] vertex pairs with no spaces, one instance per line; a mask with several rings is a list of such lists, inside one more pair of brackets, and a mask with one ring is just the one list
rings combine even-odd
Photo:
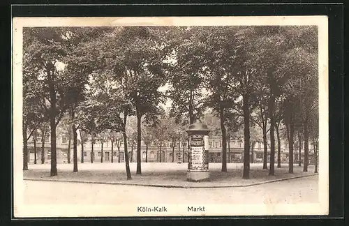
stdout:
[[325,16],[13,18],[15,218],[329,212]]

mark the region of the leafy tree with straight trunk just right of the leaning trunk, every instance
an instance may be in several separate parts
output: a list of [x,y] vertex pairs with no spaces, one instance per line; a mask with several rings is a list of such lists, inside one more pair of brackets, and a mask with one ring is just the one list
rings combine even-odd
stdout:
[[113,86],[122,89],[128,102],[127,115],[138,119],[137,174],[141,174],[141,119],[144,114],[158,111],[162,96],[158,88],[165,82],[165,54],[159,33],[158,28],[119,27],[105,36],[100,45],[103,73],[110,75]]

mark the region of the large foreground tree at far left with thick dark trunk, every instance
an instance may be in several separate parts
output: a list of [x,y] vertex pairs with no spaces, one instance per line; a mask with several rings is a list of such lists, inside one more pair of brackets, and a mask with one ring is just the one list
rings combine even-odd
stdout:
[[40,99],[40,107],[50,119],[50,176],[57,176],[56,127],[67,108],[66,93],[76,82],[67,79],[59,70],[59,61],[66,56],[65,31],[60,27],[23,30],[23,73],[31,77],[31,91]]

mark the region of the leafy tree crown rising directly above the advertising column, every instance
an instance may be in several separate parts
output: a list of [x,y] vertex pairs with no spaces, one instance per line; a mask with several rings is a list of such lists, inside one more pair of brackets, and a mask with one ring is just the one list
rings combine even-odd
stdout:
[[172,100],[170,116],[186,125],[194,123],[204,108],[202,93],[205,54],[205,29],[202,27],[179,27],[172,29],[168,98]]

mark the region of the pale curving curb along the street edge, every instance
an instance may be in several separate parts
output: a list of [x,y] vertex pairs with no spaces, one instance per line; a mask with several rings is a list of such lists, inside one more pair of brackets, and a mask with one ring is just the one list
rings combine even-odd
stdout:
[[156,187],[156,188],[244,188],[251,186],[258,186],[265,183],[274,183],[279,181],[288,181],[292,179],[298,179],[307,176],[315,176],[318,174],[307,174],[302,176],[292,176],[288,178],[275,179],[271,181],[262,181],[256,183],[248,183],[245,185],[233,185],[233,186],[176,186],[176,185],[164,185],[164,184],[144,184],[144,183],[124,183],[124,182],[99,182],[99,181],[73,181],[73,180],[57,180],[57,179],[23,179],[24,181],[55,181],[55,182],[69,182],[69,183],[97,183],[107,185],[125,185],[125,186],[143,186],[143,187]]

